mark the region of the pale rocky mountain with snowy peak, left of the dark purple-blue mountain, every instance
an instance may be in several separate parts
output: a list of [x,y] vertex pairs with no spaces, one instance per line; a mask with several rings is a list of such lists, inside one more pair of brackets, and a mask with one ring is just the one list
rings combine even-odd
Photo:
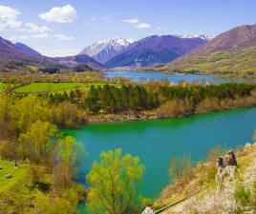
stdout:
[[134,42],[133,39],[112,38],[100,41],[92,46],[83,49],[79,54],[87,54],[93,57],[97,62],[104,64],[113,57],[117,56],[121,50]]

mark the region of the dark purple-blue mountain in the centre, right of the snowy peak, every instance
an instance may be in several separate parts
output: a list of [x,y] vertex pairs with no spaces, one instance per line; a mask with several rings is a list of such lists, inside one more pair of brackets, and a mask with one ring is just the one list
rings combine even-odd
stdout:
[[172,35],[153,35],[123,49],[105,65],[115,67],[147,67],[168,63],[191,49],[206,43],[201,38],[179,38]]

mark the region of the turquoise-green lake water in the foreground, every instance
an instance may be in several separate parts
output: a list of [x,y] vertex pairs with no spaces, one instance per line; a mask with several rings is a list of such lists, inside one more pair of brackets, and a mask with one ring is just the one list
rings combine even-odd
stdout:
[[85,183],[85,174],[101,151],[120,147],[123,154],[139,156],[146,166],[141,193],[156,199],[169,183],[167,167],[171,157],[187,153],[197,163],[212,146],[235,148],[251,142],[255,118],[256,108],[243,108],[179,119],[94,124],[66,129],[65,133],[82,141],[89,153],[80,168],[80,183]]

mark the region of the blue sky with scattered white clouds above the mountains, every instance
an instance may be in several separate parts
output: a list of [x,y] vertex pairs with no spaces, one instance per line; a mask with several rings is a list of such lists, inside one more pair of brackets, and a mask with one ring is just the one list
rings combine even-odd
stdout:
[[112,37],[218,35],[255,11],[255,0],[0,0],[0,36],[63,56]]

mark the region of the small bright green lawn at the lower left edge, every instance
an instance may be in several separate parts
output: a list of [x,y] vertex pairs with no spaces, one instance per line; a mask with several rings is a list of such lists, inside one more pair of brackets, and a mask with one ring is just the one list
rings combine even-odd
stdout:
[[[26,174],[28,165],[19,165],[18,168],[14,168],[14,164],[8,161],[0,160],[0,193],[9,190],[13,185],[16,185],[22,180]],[[5,176],[11,174],[12,178],[7,179]]]

